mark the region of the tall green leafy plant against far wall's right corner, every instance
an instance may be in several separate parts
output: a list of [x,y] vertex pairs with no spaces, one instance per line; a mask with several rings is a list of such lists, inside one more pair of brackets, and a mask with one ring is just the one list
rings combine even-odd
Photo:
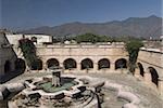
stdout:
[[136,62],[139,53],[139,49],[143,46],[143,43],[139,40],[130,40],[126,42],[126,51],[129,54],[129,71],[134,73],[136,68]]

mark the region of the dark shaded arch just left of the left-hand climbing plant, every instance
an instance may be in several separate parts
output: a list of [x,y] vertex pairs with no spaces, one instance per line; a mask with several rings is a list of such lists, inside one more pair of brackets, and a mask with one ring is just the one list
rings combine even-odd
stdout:
[[24,72],[25,69],[26,69],[25,60],[22,59],[22,58],[17,58],[17,59],[15,60],[15,69],[16,69],[16,70],[21,70],[22,72]]

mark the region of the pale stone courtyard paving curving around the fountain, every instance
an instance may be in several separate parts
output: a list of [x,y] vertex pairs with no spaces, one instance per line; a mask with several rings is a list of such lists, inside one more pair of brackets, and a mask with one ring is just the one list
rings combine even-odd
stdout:
[[[13,82],[21,82],[29,78],[35,77],[42,77],[46,75],[51,75],[48,72],[26,72],[23,73],[7,83],[13,83]],[[131,75],[125,75],[125,73],[68,73],[68,75],[75,75],[75,76],[90,76],[95,78],[105,78],[110,80],[111,82],[118,83],[122,85],[127,86],[126,90],[136,94],[140,98],[139,108],[163,108],[163,100],[159,98],[159,94],[149,86],[147,86],[143,81],[136,79]],[[4,83],[5,84],[5,83]],[[110,92],[106,94],[110,98],[110,95],[115,95],[113,92]],[[125,103],[122,100],[122,103]],[[105,103],[102,104],[102,108],[122,108],[122,103],[116,103],[116,97],[108,99]]]

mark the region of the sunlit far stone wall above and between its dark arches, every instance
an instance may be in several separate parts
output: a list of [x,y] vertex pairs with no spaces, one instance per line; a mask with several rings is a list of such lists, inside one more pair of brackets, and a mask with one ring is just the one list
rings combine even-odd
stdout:
[[[110,60],[110,69],[101,70],[112,72],[115,70],[115,62],[120,58],[128,60],[128,54],[122,43],[110,44],[53,44],[53,45],[37,45],[38,56],[43,62],[43,67],[47,67],[47,60],[55,58],[59,60],[60,66],[67,58],[73,58],[77,63],[77,68],[71,71],[84,72],[80,69],[83,59],[89,58],[93,63],[93,68],[89,69],[90,72],[100,72],[98,70],[98,62],[102,58]],[[70,70],[65,70],[70,71]]]

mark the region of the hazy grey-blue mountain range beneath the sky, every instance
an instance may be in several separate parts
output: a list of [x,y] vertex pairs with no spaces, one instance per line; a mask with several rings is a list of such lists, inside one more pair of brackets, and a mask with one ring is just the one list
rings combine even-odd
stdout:
[[86,32],[104,35],[110,37],[131,36],[152,37],[158,39],[162,31],[162,18],[155,15],[149,17],[129,17],[125,21],[113,21],[106,23],[67,23],[60,26],[38,28],[18,31],[21,33],[43,33],[54,37],[76,36]]

